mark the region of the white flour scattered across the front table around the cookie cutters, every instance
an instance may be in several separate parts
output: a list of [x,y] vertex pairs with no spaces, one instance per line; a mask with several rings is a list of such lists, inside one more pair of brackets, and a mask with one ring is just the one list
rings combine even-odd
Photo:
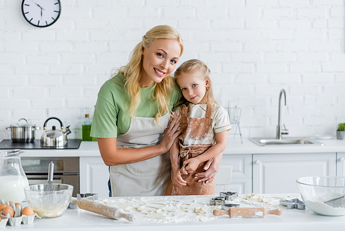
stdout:
[[[217,216],[213,210],[220,210],[221,205],[210,205],[213,196],[155,196],[132,198],[109,198],[102,201],[134,214],[135,222],[148,223],[179,223],[183,221],[213,221]],[[264,207],[275,210],[279,207],[280,199],[292,199],[297,196],[268,197],[260,194],[243,194],[231,201],[240,207]],[[229,218],[229,217],[228,217]],[[230,219],[230,218],[229,218]]]

